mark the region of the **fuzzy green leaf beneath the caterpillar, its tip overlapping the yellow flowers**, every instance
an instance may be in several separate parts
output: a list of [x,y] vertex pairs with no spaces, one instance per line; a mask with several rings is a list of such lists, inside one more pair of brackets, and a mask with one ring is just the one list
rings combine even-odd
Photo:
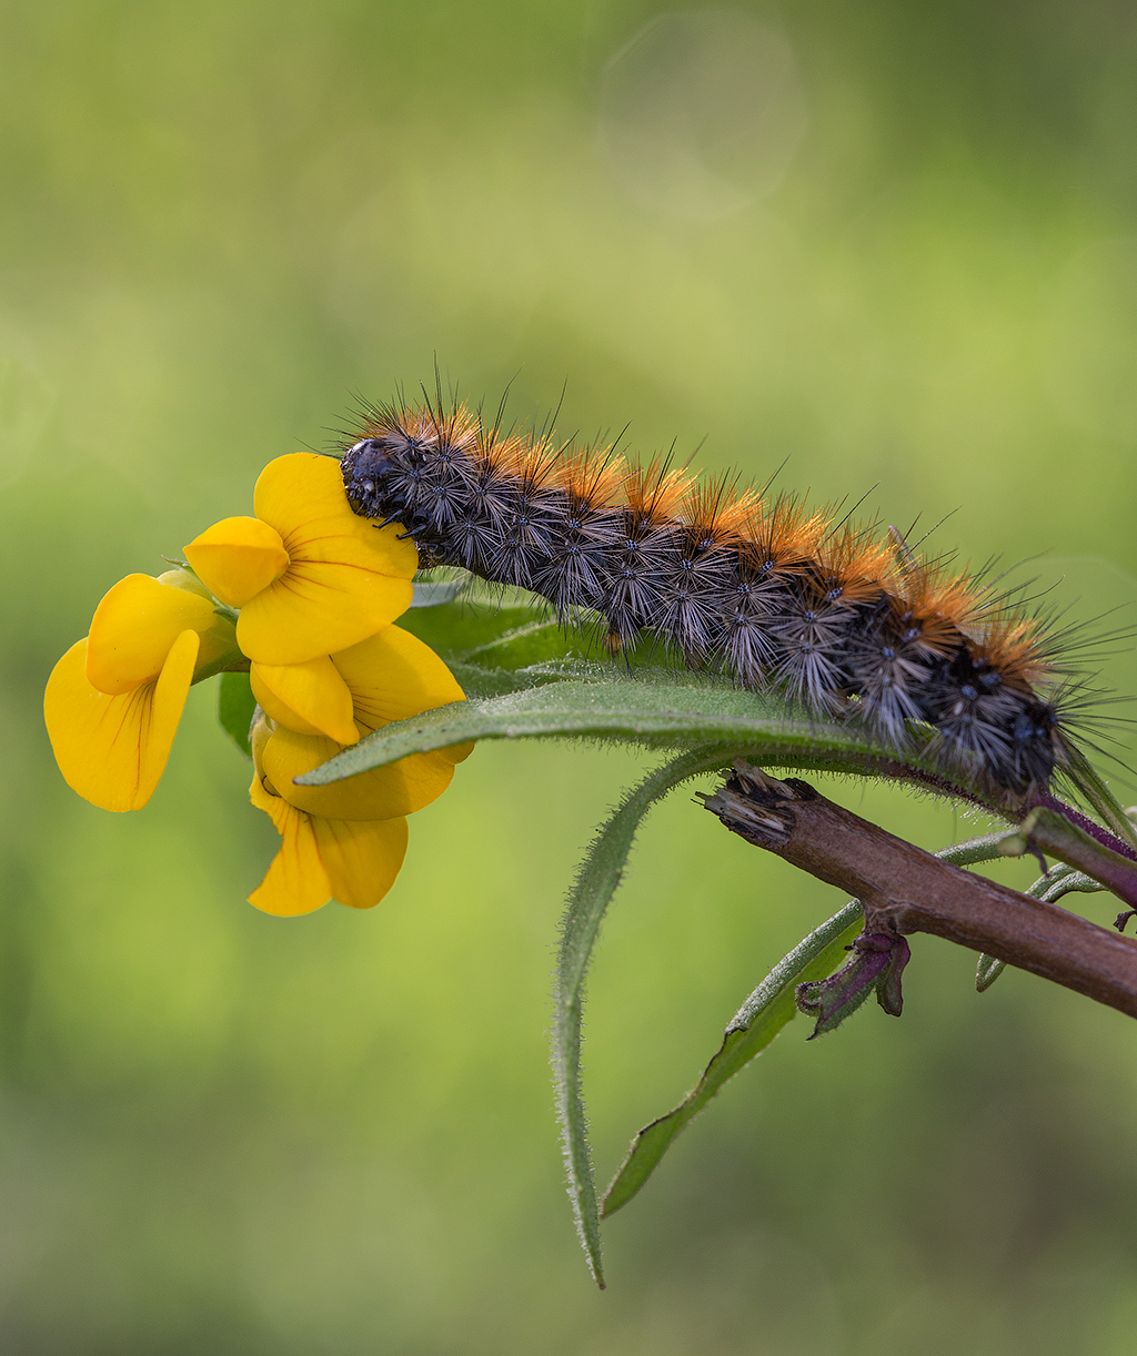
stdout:
[[[446,749],[467,739],[590,738],[649,749],[715,744],[767,767],[912,776],[925,772],[919,754],[898,761],[852,724],[787,719],[784,702],[684,670],[642,669],[634,678],[594,666],[532,666],[517,681],[539,681],[487,698],[452,702],[395,721],[297,778],[305,786],[342,781],[411,753]],[[461,679],[459,679],[461,681]],[[729,759],[727,759],[729,761]],[[940,781],[942,776],[938,773]],[[944,791],[955,788],[943,784]],[[966,791],[959,791],[966,796]]]

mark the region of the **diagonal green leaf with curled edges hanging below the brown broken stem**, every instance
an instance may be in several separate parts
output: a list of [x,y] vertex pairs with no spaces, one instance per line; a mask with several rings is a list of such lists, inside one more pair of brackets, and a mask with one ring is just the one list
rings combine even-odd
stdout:
[[659,1165],[676,1135],[796,1017],[798,984],[825,979],[832,974],[844,960],[845,946],[860,933],[863,925],[860,902],[851,899],[773,967],[726,1028],[718,1054],[695,1088],[674,1111],[644,1125],[632,1140],[628,1157],[604,1193],[601,1219],[615,1214],[635,1196]]

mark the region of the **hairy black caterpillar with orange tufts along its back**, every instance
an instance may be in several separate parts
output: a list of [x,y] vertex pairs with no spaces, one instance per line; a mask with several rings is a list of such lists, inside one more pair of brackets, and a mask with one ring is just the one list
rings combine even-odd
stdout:
[[364,407],[341,453],[354,513],[402,523],[422,568],[531,590],[563,624],[598,614],[609,652],[654,637],[895,751],[929,725],[939,763],[1020,804],[1069,774],[1057,637],[895,529],[441,399]]

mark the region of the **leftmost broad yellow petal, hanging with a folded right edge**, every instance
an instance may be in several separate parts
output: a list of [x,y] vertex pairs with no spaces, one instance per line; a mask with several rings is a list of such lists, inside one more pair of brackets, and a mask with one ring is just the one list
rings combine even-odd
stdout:
[[103,810],[141,810],[157,786],[186,704],[198,652],[195,631],[174,640],[161,674],[109,696],[85,675],[80,640],[52,670],[43,719],[66,784]]

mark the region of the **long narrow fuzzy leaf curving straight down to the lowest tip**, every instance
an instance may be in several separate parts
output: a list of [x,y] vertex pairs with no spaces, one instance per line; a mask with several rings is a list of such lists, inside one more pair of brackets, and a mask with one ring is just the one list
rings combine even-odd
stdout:
[[589,848],[564,910],[556,959],[552,1064],[568,1199],[573,1201],[585,1256],[601,1288],[604,1288],[604,1271],[600,1257],[600,1219],[587,1143],[587,1121],[581,1096],[585,976],[600,923],[620,884],[640,820],[657,800],[681,781],[720,766],[722,755],[716,750],[692,750],[657,767],[628,792]]

